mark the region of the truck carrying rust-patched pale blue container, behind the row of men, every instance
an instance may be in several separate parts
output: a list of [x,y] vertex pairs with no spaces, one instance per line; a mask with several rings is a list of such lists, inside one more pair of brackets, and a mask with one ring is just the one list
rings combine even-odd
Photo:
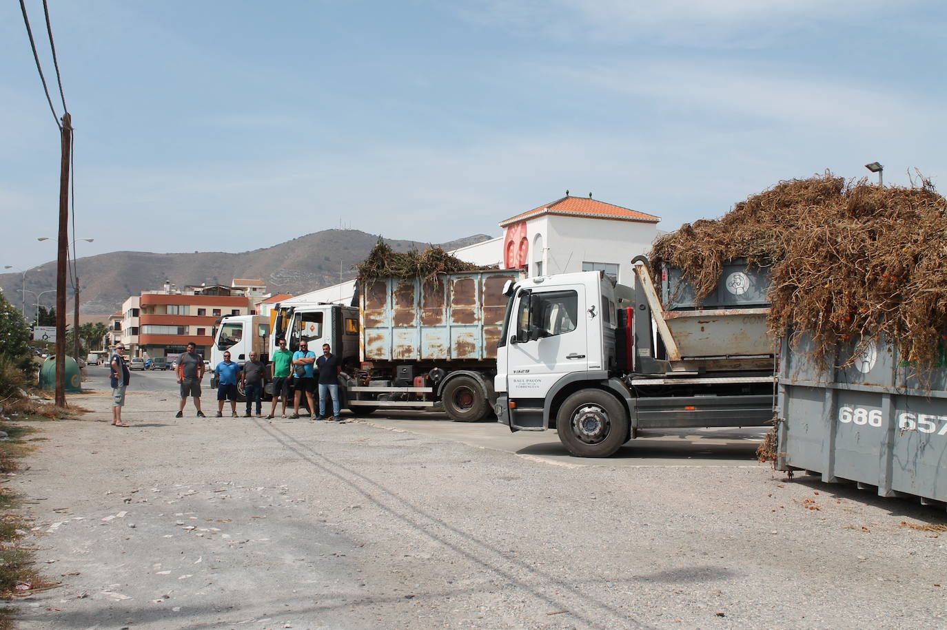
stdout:
[[456,422],[492,417],[504,286],[519,271],[465,271],[358,283],[358,306],[291,301],[273,314],[280,338],[316,356],[329,343],[342,370],[342,407],[443,410]]

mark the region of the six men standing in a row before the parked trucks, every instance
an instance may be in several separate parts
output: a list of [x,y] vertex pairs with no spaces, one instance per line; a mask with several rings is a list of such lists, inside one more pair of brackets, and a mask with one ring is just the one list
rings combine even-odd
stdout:
[[[293,414],[291,418],[299,417],[299,404],[302,394],[306,400],[310,415],[315,404],[313,394],[318,388],[319,415],[316,420],[341,420],[339,415],[338,375],[340,366],[338,359],[331,353],[328,343],[322,346],[322,356],[316,358],[315,353],[309,350],[308,341],[299,341],[299,350],[290,352],[286,347],[286,340],[277,342],[279,349],[273,354],[270,361],[270,370],[273,374],[273,408],[267,419],[272,419],[277,412],[277,402],[282,400],[282,416],[286,417],[286,405],[289,393],[295,392]],[[205,417],[201,411],[201,382],[204,380],[204,360],[197,354],[196,346],[188,343],[188,351],[178,358],[177,382],[181,385],[181,403],[175,417],[184,415],[184,407],[188,396],[194,401],[198,417]],[[261,406],[263,397],[263,381],[267,366],[259,360],[256,352],[250,352],[250,358],[241,366],[230,360],[230,353],[223,353],[223,361],[214,366],[217,375],[217,417],[223,416],[223,403],[230,401],[230,410],[233,417],[237,417],[237,386],[243,385],[246,396],[246,412],[243,417],[251,417],[250,411],[256,405],[257,417],[262,417]],[[292,387],[291,387],[292,386]],[[332,413],[326,415],[326,399],[332,399]]]

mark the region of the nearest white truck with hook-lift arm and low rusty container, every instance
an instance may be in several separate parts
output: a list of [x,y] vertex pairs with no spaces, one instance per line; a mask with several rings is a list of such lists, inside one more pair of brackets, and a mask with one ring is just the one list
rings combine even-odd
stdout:
[[633,262],[634,289],[600,271],[509,282],[493,380],[499,422],[556,429],[580,457],[608,457],[638,429],[769,423],[765,272],[724,268],[701,305],[675,270],[664,270],[659,296],[647,259]]

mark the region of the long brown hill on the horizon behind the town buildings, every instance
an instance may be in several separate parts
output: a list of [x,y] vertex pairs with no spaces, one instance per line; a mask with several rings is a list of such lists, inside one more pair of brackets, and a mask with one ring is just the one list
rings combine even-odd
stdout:
[[[489,238],[491,236],[476,235],[435,244],[453,250]],[[365,259],[377,240],[378,236],[359,230],[323,230],[241,254],[113,252],[88,256],[76,263],[81,289],[80,312],[109,315],[116,312],[129,295],[161,289],[166,280],[183,287],[201,283],[229,285],[233,278],[262,278],[267,289],[274,293],[297,295],[355,277],[356,263]],[[385,242],[396,252],[412,248],[423,250],[431,245],[389,238],[385,238]],[[0,274],[0,288],[10,303],[21,305],[20,273]],[[49,289],[56,289],[55,261],[27,271],[27,291],[39,293]],[[69,290],[71,293],[72,289]],[[53,303],[53,294],[43,296],[42,304]],[[35,308],[35,298],[30,293],[27,293],[27,304],[27,310]],[[70,312],[71,305],[70,299]]]

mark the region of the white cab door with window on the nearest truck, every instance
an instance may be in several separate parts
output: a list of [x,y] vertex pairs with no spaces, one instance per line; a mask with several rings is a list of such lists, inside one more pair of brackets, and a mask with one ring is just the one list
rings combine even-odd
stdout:
[[510,400],[532,407],[523,399],[542,400],[563,376],[588,370],[584,292],[578,284],[520,292],[507,341]]

